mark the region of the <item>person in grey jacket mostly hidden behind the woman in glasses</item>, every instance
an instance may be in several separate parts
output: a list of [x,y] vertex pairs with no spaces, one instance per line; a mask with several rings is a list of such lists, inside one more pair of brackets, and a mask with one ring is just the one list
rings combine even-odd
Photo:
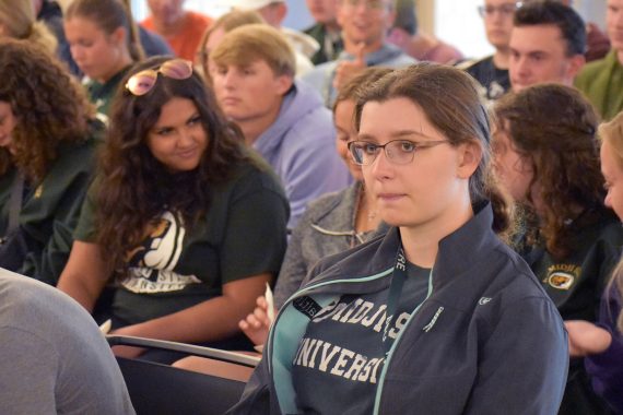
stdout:
[[[348,189],[326,194],[309,203],[287,244],[277,278],[274,312],[298,290],[307,273],[320,259],[343,252],[386,230],[378,217],[375,199],[371,192],[365,191],[361,166],[353,162],[346,145],[356,140],[353,110],[357,93],[390,71],[369,68],[353,78],[338,94],[333,106],[333,122],[338,131],[336,147],[356,181]],[[240,320],[239,325],[257,346],[261,346],[266,343],[272,321],[266,297],[258,297],[256,303],[254,312]],[[243,381],[247,381],[252,371],[200,357],[187,357],[176,361],[175,366],[224,377],[237,374],[234,375],[235,379]]]

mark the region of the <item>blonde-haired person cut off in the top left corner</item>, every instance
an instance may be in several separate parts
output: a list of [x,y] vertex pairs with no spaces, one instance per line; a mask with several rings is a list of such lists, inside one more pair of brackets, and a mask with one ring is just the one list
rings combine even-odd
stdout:
[[33,4],[25,0],[0,1],[0,38],[28,40],[50,55],[57,52],[58,40],[43,22],[35,19]]

